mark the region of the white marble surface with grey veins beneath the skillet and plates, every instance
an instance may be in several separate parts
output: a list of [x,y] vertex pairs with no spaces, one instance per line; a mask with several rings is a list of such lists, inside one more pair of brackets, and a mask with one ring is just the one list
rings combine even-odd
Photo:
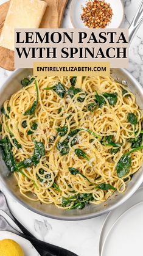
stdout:
[[[114,0],[113,0],[114,1]],[[5,2],[0,0],[0,4]],[[125,0],[125,20],[122,27],[128,27],[133,19],[141,0]],[[69,0],[66,8],[63,27],[72,27],[69,18]],[[143,25],[140,27],[136,37],[130,47],[130,65],[128,70],[138,81],[143,84]],[[0,68],[1,84],[10,75],[10,71]],[[41,240],[56,244],[69,249],[79,256],[99,256],[99,236],[105,216],[89,219],[86,221],[57,221],[54,219],[44,218],[38,214],[32,213],[26,208],[12,200],[7,194],[10,209],[16,218],[29,229],[33,235]],[[29,254],[30,256],[30,254]],[[125,255],[122,255],[125,256]]]

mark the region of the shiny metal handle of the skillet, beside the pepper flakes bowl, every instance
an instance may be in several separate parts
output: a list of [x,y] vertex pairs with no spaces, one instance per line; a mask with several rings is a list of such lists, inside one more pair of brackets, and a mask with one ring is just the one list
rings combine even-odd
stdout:
[[129,33],[129,43],[131,43],[131,41],[134,38],[134,35],[136,34],[136,32],[138,31],[139,27],[141,26],[143,21],[143,0],[141,1],[141,4],[139,5],[139,8],[136,12],[136,15],[133,18],[133,21],[130,24],[130,27],[128,29],[128,33]]

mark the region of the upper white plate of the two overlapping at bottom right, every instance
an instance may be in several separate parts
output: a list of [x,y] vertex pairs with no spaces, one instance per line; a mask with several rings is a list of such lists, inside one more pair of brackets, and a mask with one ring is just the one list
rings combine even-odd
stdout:
[[125,211],[111,227],[103,243],[101,256],[142,255],[143,202]]

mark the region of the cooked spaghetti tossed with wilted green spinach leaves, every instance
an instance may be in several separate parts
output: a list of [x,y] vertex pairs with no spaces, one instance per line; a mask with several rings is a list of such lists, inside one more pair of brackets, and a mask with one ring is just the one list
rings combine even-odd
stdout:
[[22,84],[0,119],[3,158],[21,194],[81,209],[123,193],[143,159],[134,94],[111,77],[47,76]]

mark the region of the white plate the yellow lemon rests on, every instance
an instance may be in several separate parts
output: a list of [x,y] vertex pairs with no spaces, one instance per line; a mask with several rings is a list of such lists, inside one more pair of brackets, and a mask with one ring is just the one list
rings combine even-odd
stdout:
[[35,250],[35,248],[33,248],[32,244],[28,240],[22,238],[21,236],[18,236],[9,231],[0,230],[0,240],[3,239],[12,239],[16,241],[23,249],[24,256],[40,256],[38,252]]

